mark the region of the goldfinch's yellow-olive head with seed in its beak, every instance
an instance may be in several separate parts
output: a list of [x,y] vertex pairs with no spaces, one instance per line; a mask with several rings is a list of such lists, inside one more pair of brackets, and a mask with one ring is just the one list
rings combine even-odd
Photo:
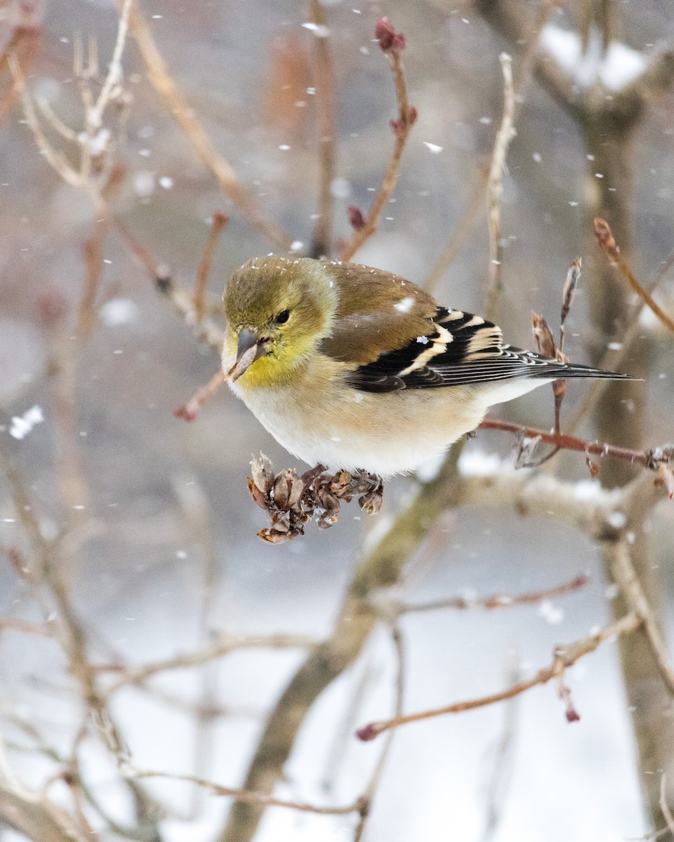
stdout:
[[329,269],[318,260],[249,260],[233,274],[224,294],[227,379],[245,374],[250,386],[285,381],[329,335],[336,296]]

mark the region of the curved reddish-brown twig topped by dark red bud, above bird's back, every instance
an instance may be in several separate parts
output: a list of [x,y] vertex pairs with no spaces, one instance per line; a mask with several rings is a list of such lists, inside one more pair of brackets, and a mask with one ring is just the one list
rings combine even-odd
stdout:
[[382,185],[379,188],[375,200],[372,202],[367,216],[364,218],[360,216],[358,227],[353,237],[351,237],[349,242],[345,243],[341,253],[342,260],[350,260],[358,249],[361,248],[362,244],[377,231],[377,219],[393,193],[393,188],[398,180],[400,160],[403,157],[405,142],[417,116],[414,105],[409,104],[403,61],[400,57],[404,49],[404,35],[395,33],[393,27],[391,24],[388,24],[386,19],[379,21],[375,32],[379,40],[379,45],[382,47],[382,51],[384,51],[391,64],[395,93],[398,99],[399,116],[398,120],[391,120],[395,143],[393,145],[391,161],[382,179]]

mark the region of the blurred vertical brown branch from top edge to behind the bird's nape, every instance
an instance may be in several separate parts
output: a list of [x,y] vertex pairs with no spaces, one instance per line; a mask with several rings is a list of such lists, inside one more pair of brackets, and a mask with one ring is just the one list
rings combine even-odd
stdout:
[[309,3],[311,20],[316,29],[313,87],[316,88],[316,109],[318,112],[318,159],[320,179],[318,184],[318,219],[313,229],[311,256],[328,257],[332,239],[333,195],[332,182],[335,173],[336,138],[334,126],[334,69],[330,56],[329,30],[325,11],[320,0]]

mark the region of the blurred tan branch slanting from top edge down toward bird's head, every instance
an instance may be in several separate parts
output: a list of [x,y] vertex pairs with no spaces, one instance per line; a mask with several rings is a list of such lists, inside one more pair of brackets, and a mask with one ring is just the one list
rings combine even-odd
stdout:
[[[120,3],[121,0],[118,0],[118,5]],[[141,51],[142,60],[147,67],[147,77],[152,86],[169,106],[170,114],[185,133],[201,162],[215,175],[222,192],[238,205],[250,224],[265,234],[265,237],[269,237],[281,248],[290,248],[291,238],[266,218],[253,197],[239,184],[232,165],[213,148],[206,131],[170,76],[147,21],[137,8],[131,9],[129,26]]]

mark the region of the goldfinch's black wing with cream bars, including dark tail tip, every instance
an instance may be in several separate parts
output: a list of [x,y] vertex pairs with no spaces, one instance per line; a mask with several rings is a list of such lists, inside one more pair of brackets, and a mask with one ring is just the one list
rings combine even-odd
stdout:
[[513,348],[504,344],[500,328],[472,313],[438,307],[431,323],[435,331],[361,365],[347,375],[346,381],[361,392],[396,392],[519,377],[629,379],[626,375],[586,365],[565,365],[533,351]]

